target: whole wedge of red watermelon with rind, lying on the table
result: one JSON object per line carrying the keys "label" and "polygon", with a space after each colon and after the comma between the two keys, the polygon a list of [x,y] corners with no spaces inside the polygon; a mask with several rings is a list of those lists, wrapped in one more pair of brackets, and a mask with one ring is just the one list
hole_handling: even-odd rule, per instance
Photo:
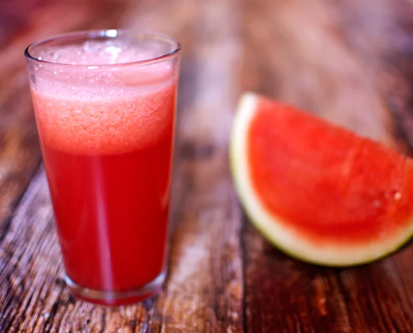
{"label": "whole wedge of red watermelon with rind, lying on the table", "polygon": [[313,114],[244,94],[230,155],[251,221],[297,259],[367,263],[413,233],[413,160]]}

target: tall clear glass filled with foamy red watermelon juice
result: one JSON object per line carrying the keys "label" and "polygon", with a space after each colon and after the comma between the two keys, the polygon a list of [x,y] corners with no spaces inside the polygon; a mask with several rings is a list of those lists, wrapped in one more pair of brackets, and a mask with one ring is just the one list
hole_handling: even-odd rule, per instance
{"label": "tall clear glass filled with foamy red watermelon juice", "polygon": [[165,280],[179,54],[122,30],[25,50],[65,281],[86,301],[134,303]]}

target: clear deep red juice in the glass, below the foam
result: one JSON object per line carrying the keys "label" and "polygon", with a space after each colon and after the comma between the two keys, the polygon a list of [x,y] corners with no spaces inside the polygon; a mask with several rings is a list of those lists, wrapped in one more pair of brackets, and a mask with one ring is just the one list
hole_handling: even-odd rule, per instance
{"label": "clear deep red juice in the glass, below the foam", "polygon": [[162,273],[171,131],[152,147],[110,155],[43,146],[66,273],[94,290],[130,290]]}

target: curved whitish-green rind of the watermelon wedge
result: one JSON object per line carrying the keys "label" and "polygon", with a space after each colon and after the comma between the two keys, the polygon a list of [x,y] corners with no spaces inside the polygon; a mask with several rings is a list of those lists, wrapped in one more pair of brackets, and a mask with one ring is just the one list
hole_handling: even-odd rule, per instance
{"label": "curved whitish-green rind of the watermelon wedge", "polygon": [[235,190],[249,219],[268,241],[286,254],[301,261],[342,267],[361,265],[386,256],[405,244],[413,235],[413,216],[406,227],[386,239],[370,243],[332,244],[317,243],[288,228],[288,221],[270,214],[253,190],[249,176],[246,135],[248,125],[260,97],[251,92],[242,95],[233,121],[229,159]]}

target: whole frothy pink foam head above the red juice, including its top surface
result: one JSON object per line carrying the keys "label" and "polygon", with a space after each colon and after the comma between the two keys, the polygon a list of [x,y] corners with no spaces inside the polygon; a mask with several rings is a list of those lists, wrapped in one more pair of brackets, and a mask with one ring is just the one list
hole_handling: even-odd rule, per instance
{"label": "whole frothy pink foam head above the red juice, including its top surface", "polygon": [[[114,154],[144,148],[171,133],[178,75],[174,60],[131,65],[165,50],[157,44],[128,43],[94,41],[39,54],[46,61],[81,65],[36,68],[32,96],[45,145],[74,153]],[[129,64],[99,68],[99,63]]]}

